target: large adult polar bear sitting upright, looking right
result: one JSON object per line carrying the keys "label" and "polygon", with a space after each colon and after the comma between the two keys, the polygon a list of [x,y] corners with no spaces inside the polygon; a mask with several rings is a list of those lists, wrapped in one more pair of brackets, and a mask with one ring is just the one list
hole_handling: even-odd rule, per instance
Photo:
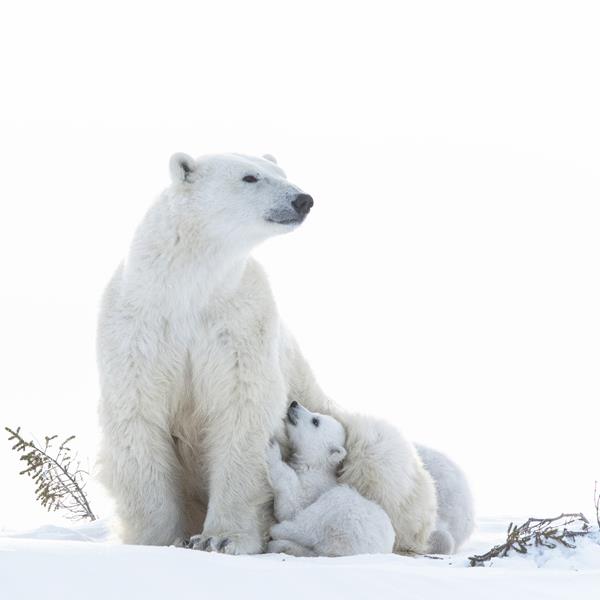
{"label": "large adult polar bear sitting upright, looking right", "polygon": [[390,425],[320,390],[282,326],[254,246],[291,231],[312,198],[270,156],[184,154],[105,292],[98,329],[101,478],[122,539],[261,552],[272,523],[265,452],[290,401],[346,427],[341,480],[389,514],[395,550],[422,552],[433,481]]}

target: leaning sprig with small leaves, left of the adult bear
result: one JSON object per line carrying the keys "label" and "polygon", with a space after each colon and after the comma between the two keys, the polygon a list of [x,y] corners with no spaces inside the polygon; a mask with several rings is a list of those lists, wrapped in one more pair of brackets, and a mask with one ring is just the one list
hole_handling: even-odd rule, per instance
{"label": "leaning sprig with small leaves, left of the adult bear", "polygon": [[84,476],[88,473],[79,467],[76,455],[67,445],[75,436],[66,438],[51,454],[52,442],[57,436],[46,436],[44,446],[40,447],[26,441],[20,427],[5,429],[10,434],[9,441],[16,440],[13,450],[21,454],[20,460],[27,465],[20,474],[31,477],[37,485],[36,500],[48,511],[64,510],[70,519],[95,521],[96,515],[85,495]]}

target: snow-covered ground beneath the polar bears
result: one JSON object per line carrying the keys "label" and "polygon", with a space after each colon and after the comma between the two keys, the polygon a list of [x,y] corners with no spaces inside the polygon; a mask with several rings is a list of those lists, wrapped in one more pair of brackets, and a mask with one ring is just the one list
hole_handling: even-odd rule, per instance
{"label": "snow-covered ground beneath the polar bears", "polygon": [[179,548],[124,546],[106,522],[46,526],[0,537],[0,597],[112,598],[600,598],[600,546],[496,560],[472,568],[467,557],[504,540],[504,519],[480,520],[459,554],[426,557],[292,558],[224,556]]}

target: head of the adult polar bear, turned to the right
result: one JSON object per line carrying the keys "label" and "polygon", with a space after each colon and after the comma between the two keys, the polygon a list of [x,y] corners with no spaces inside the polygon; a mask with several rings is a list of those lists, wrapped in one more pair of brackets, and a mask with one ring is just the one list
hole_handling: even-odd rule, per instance
{"label": "head of the adult polar bear, turned to the right", "polygon": [[172,189],[189,219],[227,243],[258,243],[304,221],[313,199],[290,183],[270,155],[171,158]]}

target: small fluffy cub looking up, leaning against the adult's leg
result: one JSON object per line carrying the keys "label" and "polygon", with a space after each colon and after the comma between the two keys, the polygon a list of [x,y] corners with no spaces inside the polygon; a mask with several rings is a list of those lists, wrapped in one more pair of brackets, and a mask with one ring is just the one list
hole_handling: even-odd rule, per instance
{"label": "small fluffy cub looking up, leaning against the adult's leg", "polygon": [[273,442],[267,451],[275,518],[267,551],[294,556],[347,556],[393,551],[387,513],[354,488],[337,481],[346,456],[346,432],[333,417],[289,406],[288,463]]}

